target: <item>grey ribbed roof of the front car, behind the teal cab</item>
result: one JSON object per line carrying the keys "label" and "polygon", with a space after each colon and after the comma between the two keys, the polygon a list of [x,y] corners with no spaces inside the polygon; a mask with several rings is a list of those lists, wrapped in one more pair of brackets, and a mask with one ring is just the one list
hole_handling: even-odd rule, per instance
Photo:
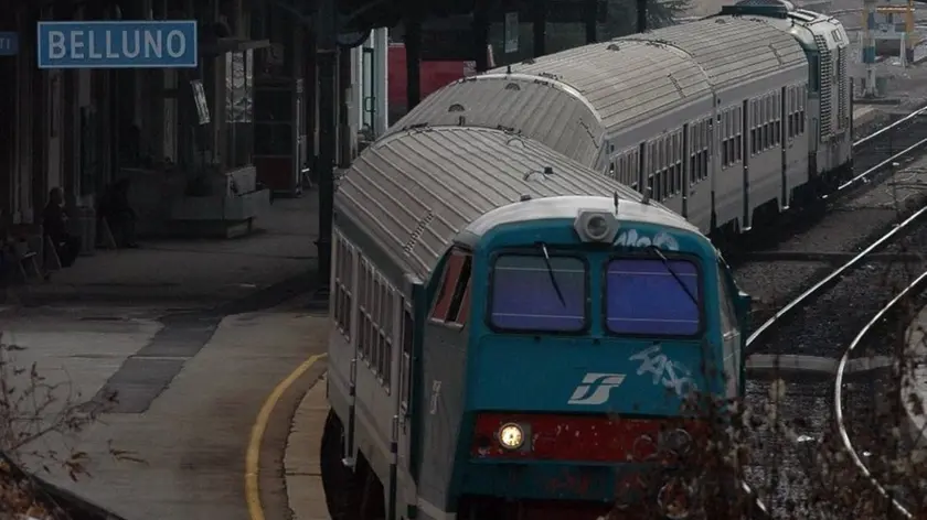
{"label": "grey ribbed roof of the front car, behind the teal cab", "polygon": [[[545,167],[553,174],[544,174]],[[648,206],[639,202],[639,193],[547,147],[502,130],[466,127],[407,130],[375,142],[339,181],[335,212],[338,219],[353,220],[409,273],[426,279],[455,239],[472,240],[475,221],[519,203],[523,195],[607,197],[603,201],[614,209],[615,193],[622,214],[699,232],[657,203],[632,209]],[[564,204],[533,202],[523,207],[534,208],[532,217],[556,217]],[[590,204],[583,207],[601,202]],[[571,216],[575,215],[574,207]],[[482,223],[479,229],[489,229],[487,220]]]}

